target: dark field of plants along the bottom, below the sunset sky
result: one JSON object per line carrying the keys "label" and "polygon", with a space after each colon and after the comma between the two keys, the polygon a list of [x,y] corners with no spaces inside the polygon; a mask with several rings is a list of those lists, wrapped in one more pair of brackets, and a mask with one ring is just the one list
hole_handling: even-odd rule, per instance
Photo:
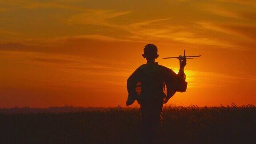
{"label": "dark field of plants along the bottom, below the sunset sky", "polygon": [[[139,108],[25,109],[0,109],[1,144],[140,143]],[[163,144],[255,143],[253,105],[165,107],[162,117]]]}

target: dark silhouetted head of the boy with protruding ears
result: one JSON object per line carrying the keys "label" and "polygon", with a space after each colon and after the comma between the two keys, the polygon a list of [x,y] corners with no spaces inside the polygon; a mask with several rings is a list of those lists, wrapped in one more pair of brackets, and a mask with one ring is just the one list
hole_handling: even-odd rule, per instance
{"label": "dark silhouetted head of the boy with protruding ears", "polygon": [[155,60],[159,55],[157,54],[157,48],[154,44],[147,44],[144,47],[144,54],[142,54],[147,60]]}

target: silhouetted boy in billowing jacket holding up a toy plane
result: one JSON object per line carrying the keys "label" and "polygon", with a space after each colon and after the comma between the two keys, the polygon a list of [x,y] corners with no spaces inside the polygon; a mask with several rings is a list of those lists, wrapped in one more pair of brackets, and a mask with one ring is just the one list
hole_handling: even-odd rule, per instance
{"label": "silhouetted boy in billowing jacket holding up a toy plane", "polygon": [[[141,134],[144,144],[160,143],[161,113],[163,104],[176,92],[185,92],[187,88],[184,67],[186,59],[180,60],[180,70],[176,74],[170,68],[155,62],[159,56],[154,44],[144,47],[142,56],[147,64],[141,65],[127,80],[128,100],[131,105],[135,100],[140,104]],[[163,88],[167,87],[167,95]]]}

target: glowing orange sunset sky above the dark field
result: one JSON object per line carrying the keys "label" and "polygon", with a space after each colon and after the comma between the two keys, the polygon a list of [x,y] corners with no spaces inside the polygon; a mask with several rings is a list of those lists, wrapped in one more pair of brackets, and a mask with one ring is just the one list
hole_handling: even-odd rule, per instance
{"label": "glowing orange sunset sky above the dark field", "polygon": [[202,55],[168,104],[256,105],[255,0],[1,0],[0,107],[124,106],[148,43]]}

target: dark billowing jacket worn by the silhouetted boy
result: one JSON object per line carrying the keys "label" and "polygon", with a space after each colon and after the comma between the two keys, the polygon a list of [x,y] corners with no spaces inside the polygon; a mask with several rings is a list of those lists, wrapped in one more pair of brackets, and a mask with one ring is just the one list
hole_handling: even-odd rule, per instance
{"label": "dark billowing jacket worn by the silhouetted boy", "polygon": [[[188,83],[185,81],[184,72],[176,74],[170,68],[166,68],[156,63],[143,64],[132,73],[127,80],[128,99],[126,105],[131,105],[135,100],[139,104],[145,99],[163,99],[170,97],[170,92],[185,92]],[[136,85],[140,82],[141,93],[136,92]],[[167,95],[163,88],[166,84]]]}

